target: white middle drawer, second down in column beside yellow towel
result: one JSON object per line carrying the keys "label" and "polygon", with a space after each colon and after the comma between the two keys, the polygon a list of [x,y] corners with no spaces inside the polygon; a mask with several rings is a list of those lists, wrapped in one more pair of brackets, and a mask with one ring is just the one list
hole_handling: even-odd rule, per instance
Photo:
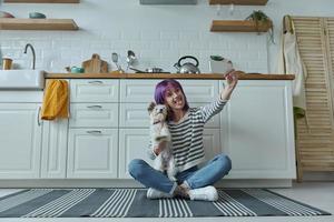
{"label": "white middle drawer, second down in column beside yellow towel", "polygon": [[118,103],[71,103],[70,128],[117,128]]}

